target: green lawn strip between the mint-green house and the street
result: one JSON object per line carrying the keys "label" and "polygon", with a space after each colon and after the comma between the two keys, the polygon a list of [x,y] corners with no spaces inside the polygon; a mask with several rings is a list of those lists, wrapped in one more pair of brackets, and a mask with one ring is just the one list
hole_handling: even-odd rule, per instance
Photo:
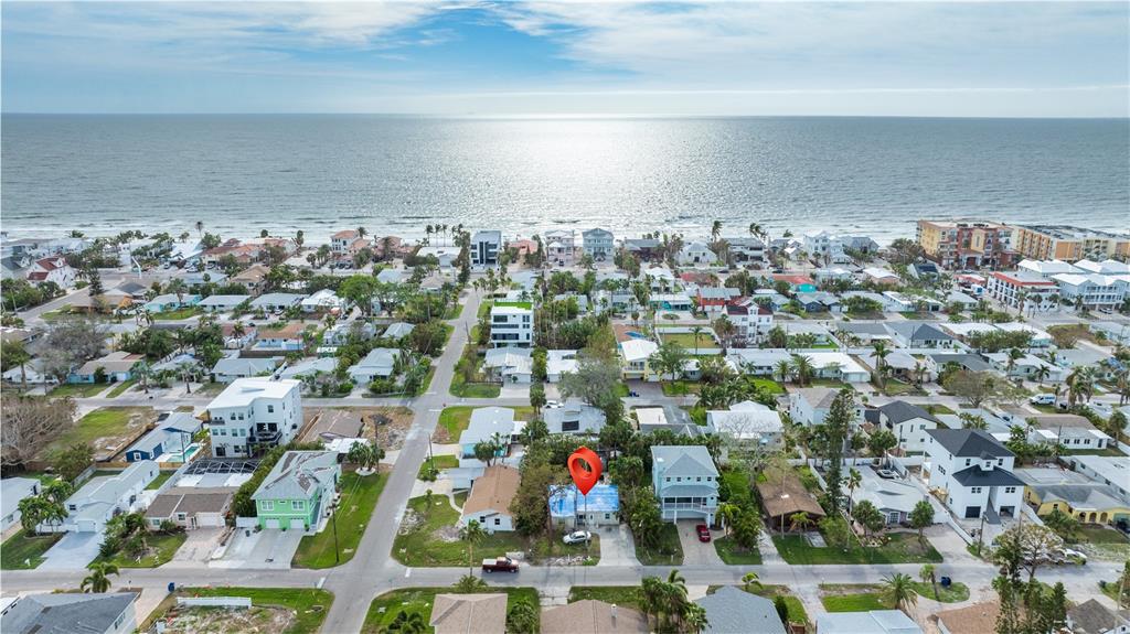
{"label": "green lawn strip between the mint-green house and the street", "polygon": [[[347,473],[341,476],[341,501],[336,511],[337,545],[340,549],[340,563],[353,558],[360,544],[365,527],[373,517],[373,509],[381,497],[381,491],[389,481],[388,474],[371,474],[359,476]],[[298,543],[298,549],[290,562],[299,567],[332,567],[338,565],[334,556],[333,520],[321,532],[306,535]]]}

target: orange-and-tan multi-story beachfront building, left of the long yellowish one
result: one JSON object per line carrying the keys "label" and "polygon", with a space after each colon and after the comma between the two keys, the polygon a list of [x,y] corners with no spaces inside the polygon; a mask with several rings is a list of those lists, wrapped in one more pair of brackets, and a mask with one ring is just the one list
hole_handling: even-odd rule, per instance
{"label": "orange-and-tan multi-story beachfront building, left of the long yellowish one", "polygon": [[918,243],[946,268],[1010,268],[1017,259],[1012,228],[974,220],[919,220]]}

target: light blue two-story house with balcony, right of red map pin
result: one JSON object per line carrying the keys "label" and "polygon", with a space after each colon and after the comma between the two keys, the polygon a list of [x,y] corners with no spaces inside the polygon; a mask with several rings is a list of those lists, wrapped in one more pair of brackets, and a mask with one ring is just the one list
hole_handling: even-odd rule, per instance
{"label": "light blue two-story house with balcony, right of red map pin", "polygon": [[666,521],[702,519],[714,523],[718,467],[701,444],[651,448],[652,486]]}

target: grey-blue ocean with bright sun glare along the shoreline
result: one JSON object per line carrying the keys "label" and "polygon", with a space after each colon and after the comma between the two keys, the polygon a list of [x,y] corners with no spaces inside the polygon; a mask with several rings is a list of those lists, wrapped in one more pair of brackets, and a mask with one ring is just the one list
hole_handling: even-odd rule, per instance
{"label": "grey-blue ocean with bright sun glare along the shoreline", "polygon": [[1130,227],[1128,120],[6,114],[0,135],[12,237]]}

